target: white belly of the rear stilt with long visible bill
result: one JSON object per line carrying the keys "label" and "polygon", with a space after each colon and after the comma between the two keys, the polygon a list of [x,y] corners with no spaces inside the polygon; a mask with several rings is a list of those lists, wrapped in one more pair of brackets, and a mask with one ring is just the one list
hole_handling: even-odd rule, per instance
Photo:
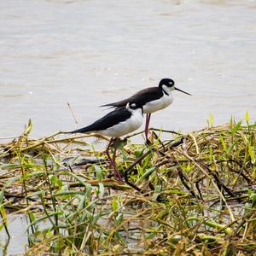
{"label": "white belly of the rear stilt with long visible bill", "polygon": [[164,94],[160,99],[153,102],[148,102],[143,106],[144,113],[154,113],[155,111],[161,110],[168,107],[173,102],[173,96],[170,93],[169,95]]}

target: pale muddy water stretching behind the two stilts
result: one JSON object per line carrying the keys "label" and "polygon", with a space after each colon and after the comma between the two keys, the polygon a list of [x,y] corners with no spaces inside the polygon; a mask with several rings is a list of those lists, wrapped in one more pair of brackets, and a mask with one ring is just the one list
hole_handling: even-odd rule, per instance
{"label": "pale muddy water stretching behind the two stilts", "polygon": [[175,92],[154,127],[255,120],[255,24],[255,0],[0,1],[0,137],[29,118],[34,137],[75,128],[67,102],[90,124],[164,77],[193,96]]}

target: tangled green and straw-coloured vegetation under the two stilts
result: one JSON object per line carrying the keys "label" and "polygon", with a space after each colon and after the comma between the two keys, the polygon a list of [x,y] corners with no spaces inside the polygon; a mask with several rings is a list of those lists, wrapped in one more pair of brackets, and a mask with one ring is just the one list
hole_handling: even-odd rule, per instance
{"label": "tangled green and straw-coloured vegetation under the two stilts", "polygon": [[29,123],[1,145],[0,228],[26,214],[27,255],[253,255],[256,125],[246,121],[120,143],[125,184],[88,135],[35,140]]}

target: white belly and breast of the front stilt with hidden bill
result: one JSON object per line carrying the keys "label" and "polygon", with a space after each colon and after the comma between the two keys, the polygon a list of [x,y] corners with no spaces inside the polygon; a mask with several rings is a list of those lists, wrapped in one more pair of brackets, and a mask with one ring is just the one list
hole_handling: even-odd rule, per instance
{"label": "white belly and breast of the front stilt with hidden bill", "polygon": [[122,137],[131,131],[136,131],[143,124],[143,113],[142,109],[136,109],[132,114],[131,118],[113,125],[104,131],[98,131],[99,133],[108,137]]}

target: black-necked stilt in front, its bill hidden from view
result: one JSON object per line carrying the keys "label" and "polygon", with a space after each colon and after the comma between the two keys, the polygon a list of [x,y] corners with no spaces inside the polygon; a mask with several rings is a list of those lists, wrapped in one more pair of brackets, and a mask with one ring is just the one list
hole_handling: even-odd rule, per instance
{"label": "black-necked stilt in front, its bill hidden from view", "polygon": [[[111,137],[110,142],[108,143],[108,148],[106,149],[106,153],[113,166],[114,177],[119,180],[119,182],[123,182],[115,162],[119,137],[122,137],[131,131],[137,130],[142,124],[143,106],[139,104],[139,102],[128,102],[125,105],[125,108],[116,108],[112,112],[103,116],[101,119],[96,120],[96,122],[93,124],[75,131],[70,131],[68,133],[96,132]],[[111,158],[109,154],[109,148],[113,141],[115,142],[115,147],[113,151],[113,157]]]}

